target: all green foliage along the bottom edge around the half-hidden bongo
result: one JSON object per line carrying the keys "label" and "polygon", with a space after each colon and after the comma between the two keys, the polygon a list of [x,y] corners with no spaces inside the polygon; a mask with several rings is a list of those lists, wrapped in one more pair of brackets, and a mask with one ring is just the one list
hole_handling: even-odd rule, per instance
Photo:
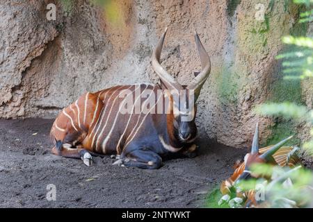
{"label": "all green foliage along the bottom edge around the half-hidden bongo", "polygon": [[[231,187],[234,190],[232,194],[222,197],[218,189],[212,191],[207,198],[207,207],[245,207],[246,198],[242,194],[251,190],[255,191],[258,207],[313,206],[313,175],[310,170],[301,166],[290,169],[272,164],[253,164],[250,172],[257,178],[235,182]],[[233,195],[236,191],[241,193],[241,198]]]}

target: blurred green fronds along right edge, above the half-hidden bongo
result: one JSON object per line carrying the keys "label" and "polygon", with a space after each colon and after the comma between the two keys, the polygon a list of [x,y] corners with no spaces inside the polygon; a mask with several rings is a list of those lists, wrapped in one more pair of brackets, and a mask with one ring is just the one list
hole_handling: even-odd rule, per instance
{"label": "blurred green fronds along right edge, above the half-hidden bongo", "polygon": [[[294,2],[305,3],[307,7],[313,4],[313,0],[294,0]],[[300,13],[300,18],[307,19],[311,16],[312,10]],[[303,22],[303,20],[300,19],[299,22]],[[290,47],[289,51],[277,56],[277,59],[283,60],[282,67],[284,68],[284,84],[274,86],[273,97],[278,100],[275,101],[274,99],[273,102],[275,103],[259,105],[256,111],[258,114],[269,117],[283,117],[287,119],[284,123],[290,123],[291,120],[313,123],[313,111],[301,105],[300,99],[300,80],[313,77],[313,39],[304,36],[285,36],[282,38],[282,42]],[[281,98],[284,98],[283,101]],[[288,128],[273,130],[273,133],[276,133],[273,137],[280,137],[281,132],[278,133],[277,131],[287,132]],[[303,148],[313,153],[313,139],[303,144]]]}

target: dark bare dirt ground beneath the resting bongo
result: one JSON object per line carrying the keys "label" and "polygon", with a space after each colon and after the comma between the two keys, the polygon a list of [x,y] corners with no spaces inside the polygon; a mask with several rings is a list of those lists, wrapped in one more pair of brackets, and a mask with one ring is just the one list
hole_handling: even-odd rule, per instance
{"label": "dark bare dirt ground beneath the resting bongo", "polygon": [[[0,207],[203,207],[207,191],[246,153],[203,137],[193,159],[166,160],[158,170],[112,165],[109,156],[52,155],[51,119],[0,120]],[[56,185],[56,201],[46,198]]]}

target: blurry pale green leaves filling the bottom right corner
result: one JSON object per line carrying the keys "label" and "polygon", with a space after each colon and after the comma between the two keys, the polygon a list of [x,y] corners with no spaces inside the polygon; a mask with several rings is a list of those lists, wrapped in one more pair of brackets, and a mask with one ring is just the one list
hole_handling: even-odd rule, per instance
{"label": "blurry pale green leaves filling the bottom right corner", "polygon": [[[239,182],[242,191],[262,187],[259,192],[264,192],[264,200],[259,204],[262,207],[312,207],[312,172],[296,167],[273,167],[268,164],[255,164],[251,167],[253,174],[264,173],[271,180],[259,178]],[[270,173],[268,173],[270,172]],[[257,189],[256,189],[257,190]]]}

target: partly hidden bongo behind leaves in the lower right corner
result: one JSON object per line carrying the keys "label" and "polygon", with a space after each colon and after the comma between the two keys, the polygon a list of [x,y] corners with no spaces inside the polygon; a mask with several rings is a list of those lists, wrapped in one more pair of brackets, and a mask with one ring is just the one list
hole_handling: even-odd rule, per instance
{"label": "partly hidden bongo behind leaves in the lower right corner", "polygon": [[259,148],[259,129],[258,123],[255,127],[255,134],[252,139],[252,147],[250,153],[246,154],[244,161],[236,167],[234,173],[230,178],[223,181],[220,185],[220,192],[225,195],[231,195],[232,191],[236,192],[236,196],[246,200],[245,206],[250,207],[251,205],[256,206],[257,201],[255,200],[255,190],[249,190],[245,193],[236,191],[236,184],[241,180],[247,180],[248,178],[259,178],[259,175],[252,175],[250,167],[252,164],[267,163],[276,164],[280,167],[296,167],[300,164],[300,158],[296,155],[295,151],[297,148],[291,146],[283,146],[291,137],[283,139],[274,146],[267,146]]}

